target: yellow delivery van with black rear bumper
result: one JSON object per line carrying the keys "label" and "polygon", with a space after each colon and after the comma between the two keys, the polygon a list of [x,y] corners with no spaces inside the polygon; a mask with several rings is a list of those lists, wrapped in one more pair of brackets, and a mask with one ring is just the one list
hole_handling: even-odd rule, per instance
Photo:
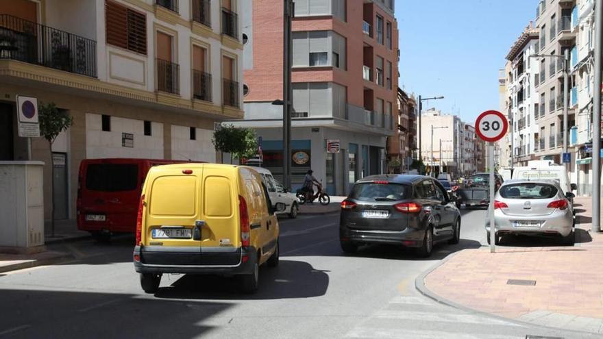
{"label": "yellow delivery van with black rear bumper", "polygon": [[245,292],[255,292],[259,266],[278,265],[279,227],[269,199],[260,175],[247,166],[151,168],[134,247],[143,290],[156,292],[163,273],[192,273],[236,275]]}

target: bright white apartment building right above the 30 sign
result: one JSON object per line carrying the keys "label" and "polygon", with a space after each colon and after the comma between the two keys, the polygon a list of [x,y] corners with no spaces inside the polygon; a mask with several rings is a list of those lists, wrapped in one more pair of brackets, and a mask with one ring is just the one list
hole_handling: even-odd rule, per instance
{"label": "bright white apartment building right above the 30 sign", "polygon": [[506,55],[510,66],[506,81],[510,117],[508,133],[515,166],[526,166],[528,161],[536,159],[534,152],[545,151],[545,136],[537,123],[543,110],[543,96],[536,91],[536,85],[540,83],[541,62],[531,57],[539,53],[538,44],[539,30],[530,23]]}

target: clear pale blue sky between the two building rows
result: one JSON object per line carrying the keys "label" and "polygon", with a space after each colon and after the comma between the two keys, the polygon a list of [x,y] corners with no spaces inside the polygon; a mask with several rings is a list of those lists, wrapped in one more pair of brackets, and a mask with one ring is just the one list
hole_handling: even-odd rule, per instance
{"label": "clear pale blue sky between the two building rows", "polygon": [[423,102],[475,121],[499,110],[498,70],[539,0],[395,0],[399,30],[398,86]]}

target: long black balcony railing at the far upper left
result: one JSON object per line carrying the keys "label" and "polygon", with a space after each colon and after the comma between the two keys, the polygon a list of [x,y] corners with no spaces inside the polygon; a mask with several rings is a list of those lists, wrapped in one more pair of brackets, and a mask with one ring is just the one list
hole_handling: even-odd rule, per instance
{"label": "long black balcony railing at the far upper left", "polygon": [[95,40],[0,14],[0,46],[0,59],[97,77]]}

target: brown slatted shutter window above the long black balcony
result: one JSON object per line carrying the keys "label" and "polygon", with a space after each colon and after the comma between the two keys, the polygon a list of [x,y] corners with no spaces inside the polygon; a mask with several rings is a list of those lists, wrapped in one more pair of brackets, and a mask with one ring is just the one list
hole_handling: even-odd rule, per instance
{"label": "brown slatted shutter window above the long black balcony", "polygon": [[130,8],[106,1],[107,43],[129,49],[136,53],[147,54],[147,17]]}

